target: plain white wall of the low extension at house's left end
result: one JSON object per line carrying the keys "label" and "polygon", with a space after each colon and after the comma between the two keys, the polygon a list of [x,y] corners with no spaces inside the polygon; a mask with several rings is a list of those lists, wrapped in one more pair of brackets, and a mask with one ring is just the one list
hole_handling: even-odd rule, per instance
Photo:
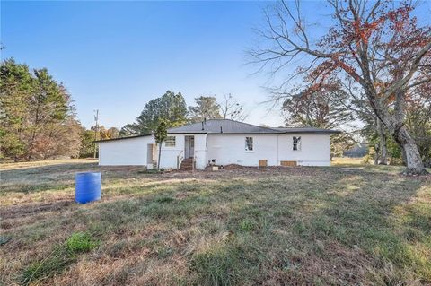
{"label": "plain white wall of the low extension at house's left end", "polygon": [[149,143],[154,143],[153,136],[99,143],[99,165],[146,165],[146,149]]}

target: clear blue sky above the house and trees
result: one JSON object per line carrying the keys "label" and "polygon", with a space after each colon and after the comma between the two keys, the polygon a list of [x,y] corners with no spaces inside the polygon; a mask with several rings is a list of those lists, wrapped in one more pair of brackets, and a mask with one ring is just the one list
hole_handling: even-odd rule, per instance
{"label": "clear blue sky above the house and trees", "polygon": [[[2,1],[2,58],[47,67],[87,127],[95,108],[104,126],[131,123],[167,90],[181,91],[188,105],[232,93],[249,110],[248,122],[278,126],[278,109],[259,104],[268,99],[265,74],[244,65],[267,4]],[[314,21],[328,14],[321,2],[304,5]]]}

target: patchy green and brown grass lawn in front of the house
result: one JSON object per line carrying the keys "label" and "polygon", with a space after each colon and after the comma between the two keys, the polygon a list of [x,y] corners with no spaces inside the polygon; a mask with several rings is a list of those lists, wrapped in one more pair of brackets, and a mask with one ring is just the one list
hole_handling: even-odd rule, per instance
{"label": "patchy green and brown grass lawn in front of the house", "polygon": [[[431,283],[431,178],[400,167],[0,168],[0,284]],[[102,199],[75,204],[89,170]]]}

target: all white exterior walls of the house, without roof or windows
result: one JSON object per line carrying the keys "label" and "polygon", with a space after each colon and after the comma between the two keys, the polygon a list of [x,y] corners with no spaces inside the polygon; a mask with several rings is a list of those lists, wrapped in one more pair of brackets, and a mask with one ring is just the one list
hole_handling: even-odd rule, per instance
{"label": "all white exterior walls of the house, without roof or windows", "polygon": [[[162,144],[161,168],[177,168],[177,157],[184,156],[186,134],[175,136],[175,146]],[[193,134],[187,134],[193,135]],[[293,150],[293,137],[301,136],[301,150]],[[194,134],[197,169],[204,169],[208,160],[218,165],[239,164],[279,166],[281,160],[296,160],[303,166],[330,166],[330,134]],[[245,151],[245,137],[253,137],[253,151]],[[153,136],[99,143],[99,165],[147,165],[147,144]],[[157,151],[158,152],[158,151]],[[158,156],[158,153],[157,153]]]}

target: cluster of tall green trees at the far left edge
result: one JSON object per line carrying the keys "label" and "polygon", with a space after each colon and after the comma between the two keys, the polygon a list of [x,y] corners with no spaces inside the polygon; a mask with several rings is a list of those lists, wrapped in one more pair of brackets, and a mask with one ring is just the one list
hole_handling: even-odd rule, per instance
{"label": "cluster of tall green trees at the far left edge", "polygon": [[77,157],[81,126],[70,94],[47,69],[5,60],[0,67],[0,156],[8,160]]}

